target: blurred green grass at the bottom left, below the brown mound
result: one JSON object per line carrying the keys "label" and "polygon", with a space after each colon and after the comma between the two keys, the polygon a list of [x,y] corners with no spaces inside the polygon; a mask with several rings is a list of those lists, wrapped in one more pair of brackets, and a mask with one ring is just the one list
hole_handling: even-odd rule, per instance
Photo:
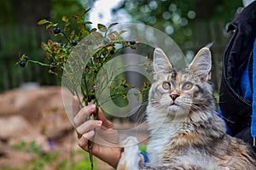
{"label": "blurred green grass at the bottom left, below the brown mound", "polygon": [[[22,167],[12,167],[11,165],[2,167],[2,170],[81,170],[90,169],[90,158],[84,150],[74,150],[69,158],[61,157],[60,150],[42,152],[36,142],[27,144],[20,141],[20,144],[13,145],[17,151],[22,151],[24,154],[31,154],[32,159],[24,162]],[[79,160],[74,160],[75,156],[79,156]],[[99,170],[96,167],[96,159],[94,159],[94,170]]]}

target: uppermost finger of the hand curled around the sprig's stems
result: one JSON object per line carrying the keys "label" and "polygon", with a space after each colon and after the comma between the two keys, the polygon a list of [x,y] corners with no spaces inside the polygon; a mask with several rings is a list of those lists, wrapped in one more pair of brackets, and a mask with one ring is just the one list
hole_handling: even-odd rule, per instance
{"label": "uppermost finger of the hand curled around the sprig's stems", "polygon": [[80,111],[77,113],[76,116],[73,118],[73,122],[75,127],[79,127],[84,121],[87,116],[90,116],[95,111],[95,105],[87,105],[84,106]]}

